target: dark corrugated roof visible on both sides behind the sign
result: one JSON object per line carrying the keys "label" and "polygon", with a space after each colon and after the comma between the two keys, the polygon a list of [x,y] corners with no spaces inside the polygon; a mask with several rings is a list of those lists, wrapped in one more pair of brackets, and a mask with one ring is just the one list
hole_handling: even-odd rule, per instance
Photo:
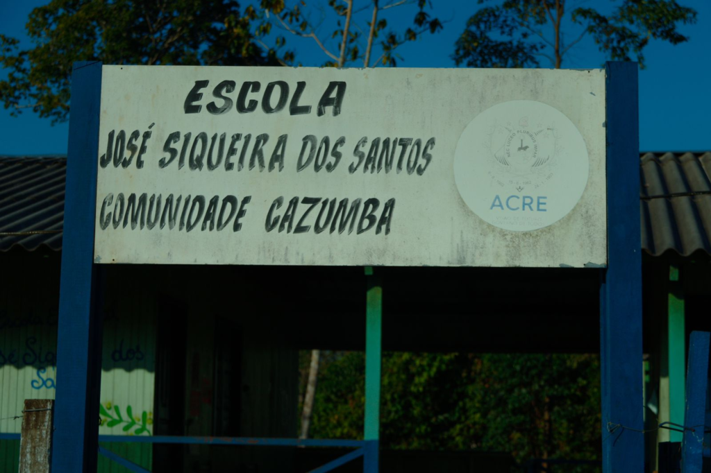
{"label": "dark corrugated roof visible on both sides behind the sign", "polygon": [[[642,248],[711,254],[711,152],[644,153],[640,172]],[[65,173],[63,157],[0,157],[0,251],[61,249]]]}

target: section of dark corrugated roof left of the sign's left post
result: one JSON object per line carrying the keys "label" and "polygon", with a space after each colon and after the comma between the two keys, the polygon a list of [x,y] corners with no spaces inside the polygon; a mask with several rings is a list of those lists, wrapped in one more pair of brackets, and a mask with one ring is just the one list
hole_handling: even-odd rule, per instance
{"label": "section of dark corrugated roof left of the sign's left post", "polygon": [[63,157],[0,157],[0,251],[62,247]]}

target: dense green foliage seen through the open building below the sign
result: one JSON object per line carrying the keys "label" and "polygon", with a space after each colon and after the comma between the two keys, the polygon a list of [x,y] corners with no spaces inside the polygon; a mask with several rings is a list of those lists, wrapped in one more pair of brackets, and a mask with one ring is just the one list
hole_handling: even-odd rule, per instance
{"label": "dense green foliage seen through the open building below the sign", "polygon": [[[363,354],[321,363],[311,437],[362,437]],[[382,390],[385,448],[599,458],[597,355],[388,353]]]}

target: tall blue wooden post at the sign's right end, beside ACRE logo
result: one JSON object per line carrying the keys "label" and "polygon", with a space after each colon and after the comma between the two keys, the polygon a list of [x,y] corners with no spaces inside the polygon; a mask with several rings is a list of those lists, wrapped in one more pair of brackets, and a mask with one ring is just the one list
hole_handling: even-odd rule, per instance
{"label": "tall blue wooden post at the sign's right end, beside ACRE logo", "polygon": [[607,255],[600,287],[602,468],[644,469],[636,62],[606,64]]}

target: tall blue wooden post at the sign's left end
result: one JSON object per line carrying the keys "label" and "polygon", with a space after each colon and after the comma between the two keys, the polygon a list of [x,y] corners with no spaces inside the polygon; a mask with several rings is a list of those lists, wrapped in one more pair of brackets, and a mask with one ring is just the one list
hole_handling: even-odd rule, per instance
{"label": "tall blue wooden post at the sign's left end", "polygon": [[93,260],[101,73],[101,62],[76,62],[72,74],[53,473],[97,468],[102,334],[93,304]]}

